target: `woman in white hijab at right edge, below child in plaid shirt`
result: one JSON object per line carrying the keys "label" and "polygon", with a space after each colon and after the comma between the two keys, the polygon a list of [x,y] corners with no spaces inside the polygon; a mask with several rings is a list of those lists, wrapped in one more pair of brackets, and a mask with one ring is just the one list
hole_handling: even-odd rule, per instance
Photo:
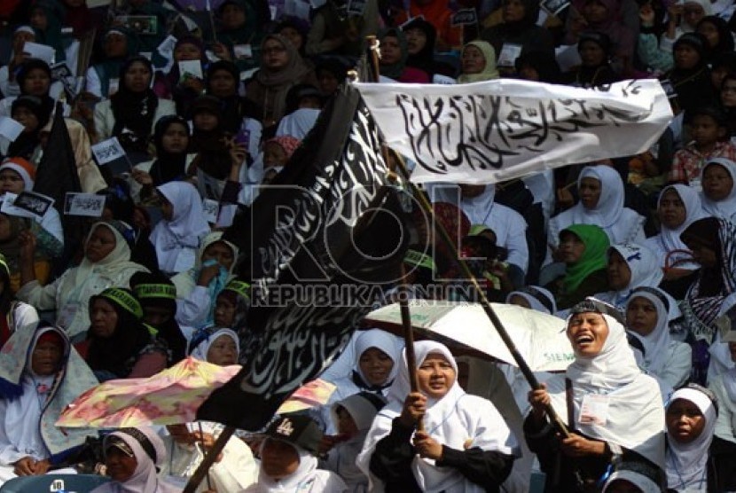
{"label": "woman in white hijab at right edge, below child in plaid shirt", "polygon": [[709,160],[701,169],[701,200],[708,215],[733,223],[736,218],[736,162]]}

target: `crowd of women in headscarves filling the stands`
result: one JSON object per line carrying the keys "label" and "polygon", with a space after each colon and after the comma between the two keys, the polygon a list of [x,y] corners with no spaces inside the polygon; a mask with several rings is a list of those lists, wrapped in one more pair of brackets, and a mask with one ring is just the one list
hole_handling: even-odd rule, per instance
{"label": "crowd of women in headscarves filling the stands", "polygon": [[[188,6],[0,5],[0,481],[88,471],[97,450],[111,482],[95,491],[182,489],[221,425],[122,428],[94,445],[54,423],[98,382],[262,347],[239,262],[250,241],[223,231],[259,187],[308,165],[294,152],[377,35],[380,82],[655,77],[675,117],[636,156],[425,190],[491,301],[566,320],[567,372],[530,391],[508,365],[420,341],[411,391],[403,341],[358,331],[322,375],[330,402],[233,436],[199,490],[736,490],[732,2]],[[92,219],[13,206],[57,158],[54,121],[81,192],[103,197]],[[98,166],[92,145],[113,137],[124,162]],[[412,295],[474,301],[414,213]]]}

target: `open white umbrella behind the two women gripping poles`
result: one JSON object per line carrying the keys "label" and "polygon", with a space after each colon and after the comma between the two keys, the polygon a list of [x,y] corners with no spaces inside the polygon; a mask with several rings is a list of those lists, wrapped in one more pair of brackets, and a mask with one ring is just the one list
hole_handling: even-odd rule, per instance
{"label": "open white umbrella behind the two women gripping poles", "polygon": [[[491,307],[533,372],[561,372],[575,359],[561,318],[516,305]],[[518,366],[480,304],[413,300],[409,310],[411,325],[424,337]],[[372,311],[365,323],[401,334],[399,304]]]}

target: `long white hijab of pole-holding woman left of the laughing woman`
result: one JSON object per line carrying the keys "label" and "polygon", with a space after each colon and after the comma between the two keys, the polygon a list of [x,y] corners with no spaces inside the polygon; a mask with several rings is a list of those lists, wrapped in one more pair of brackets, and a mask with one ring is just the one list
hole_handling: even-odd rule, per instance
{"label": "long white hijab of pole-holding woman left of the laughing woman", "polygon": [[[424,426],[427,434],[437,442],[455,450],[466,450],[479,447],[482,450],[497,450],[513,455],[517,443],[513,434],[505,425],[504,419],[493,404],[481,397],[466,395],[457,380],[458,364],[450,353],[450,349],[432,340],[414,343],[417,366],[419,367],[430,354],[444,356],[456,372],[455,382],[447,394],[440,399],[427,398],[427,414]],[[388,390],[388,404],[373,420],[371,431],[364,442],[363,450],[357,458],[357,466],[371,478],[372,491],[383,491],[380,478],[370,473],[370,462],[376,444],[388,435],[393,420],[403,409],[403,402],[409,395],[411,385],[406,366],[406,351],[402,355],[402,364],[394,384]],[[435,461],[415,456],[411,462],[411,472],[419,484],[419,489],[427,493],[482,492],[485,489],[466,478],[455,468],[437,467]]]}

